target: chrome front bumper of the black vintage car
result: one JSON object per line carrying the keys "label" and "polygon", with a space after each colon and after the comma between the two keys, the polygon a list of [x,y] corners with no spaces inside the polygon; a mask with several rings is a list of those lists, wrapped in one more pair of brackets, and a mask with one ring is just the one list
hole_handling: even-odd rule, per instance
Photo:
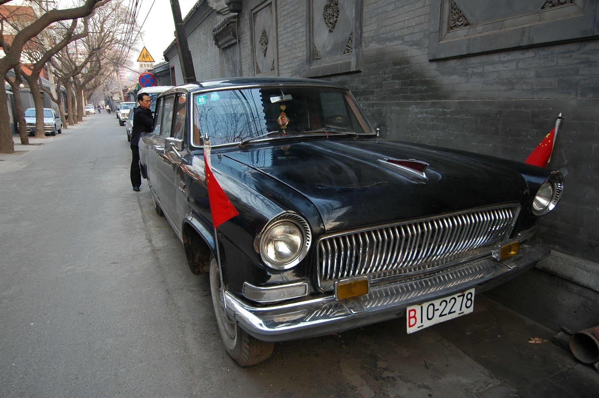
{"label": "chrome front bumper of the black vintage car", "polygon": [[528,271],[549,253],[549,248],[542,245],[522,244],[520,252],[506,260],[485,257],[420,277],[371,285],[367,295],[346,300],[337,300],[331,294],[301,302],[256,307],[227,291],[226,310],[242,329],[262,341],[328,335],[403,317],[410,305],[473,287],[480,293]]}

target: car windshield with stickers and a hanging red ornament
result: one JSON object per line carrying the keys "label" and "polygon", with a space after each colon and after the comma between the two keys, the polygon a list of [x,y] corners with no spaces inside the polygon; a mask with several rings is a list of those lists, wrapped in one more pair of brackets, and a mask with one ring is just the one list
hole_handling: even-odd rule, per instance
{"label": "car windshield with stickers and a hanging red ornament", "polygon": [[373,133],[349,92],[326,87],[259,87],[193,96],[193,144],[265,136]]}

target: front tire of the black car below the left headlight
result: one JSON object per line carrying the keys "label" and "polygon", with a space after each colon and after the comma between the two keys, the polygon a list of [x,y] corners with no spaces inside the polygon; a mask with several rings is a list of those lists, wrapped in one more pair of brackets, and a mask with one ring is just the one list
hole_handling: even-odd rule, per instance
{"label": "front tire of the black car below the left headlight", "polygon": [[220,339],[229,356],[241,366],[252,366],[270,358],[274,343],[253,338],[226,315],[220,268],[214,256],[210,258],[210,293]]}

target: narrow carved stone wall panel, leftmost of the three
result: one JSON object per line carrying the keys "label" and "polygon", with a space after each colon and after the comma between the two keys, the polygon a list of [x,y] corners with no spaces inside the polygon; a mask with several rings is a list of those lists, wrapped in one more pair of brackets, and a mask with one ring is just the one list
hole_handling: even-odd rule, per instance
{"label": "narrow carved stone wall panel, leftmost of the three", "polygon": [[263,3],[252,10],[253,57],[256,75],[276,73],[278,48],[275,10],[273,2]]}

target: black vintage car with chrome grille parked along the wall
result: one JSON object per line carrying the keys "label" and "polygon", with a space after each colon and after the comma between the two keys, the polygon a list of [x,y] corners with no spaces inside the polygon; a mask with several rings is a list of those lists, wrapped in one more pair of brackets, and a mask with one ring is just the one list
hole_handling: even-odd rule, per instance
{"label": "black vintage car with chrome grille parked along the wall", "polygon": [[[202,147],[239,215],[213,228]],[[229,78],[164,92],[142,174],[243,366],[273,343],[406,315],[412,333],[549,255],[556,171],[379,138],[344,87]],[[216,232],[215,232],[216,231]]]}

